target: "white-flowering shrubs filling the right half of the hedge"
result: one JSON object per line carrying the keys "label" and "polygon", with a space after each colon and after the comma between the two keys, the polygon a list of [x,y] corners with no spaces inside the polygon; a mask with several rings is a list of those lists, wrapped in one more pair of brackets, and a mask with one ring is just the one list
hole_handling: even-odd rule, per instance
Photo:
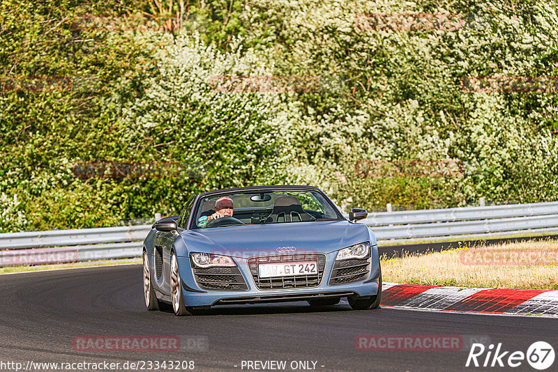
{"label": "white-flowering shrubs filling the right half of the hedge", "polygon": [[[362,21],[397,14],[450,14],[459,22],[409,31],[397,29],[402,24],[375,29]],[[557,76],[555,60],[543,57],[558,52],[555,5],[256,0],[243,16],[254,25],[253,42],[278,68],[341,82],[337,89],[299,97],[303,114],[291,140],[293,148],[303,149],[293,175],[299,182],[369,208],[460,206],[480,196],[558,198],[552,186],[558,180],[555,92],[462,88],[469,77]],[[269,22],[273,18],[281,22]],[[259,34],[255,24],[262,19],[267,24]],[[355,171],[359,160],[455,160],[463,173],[367,178]]]}

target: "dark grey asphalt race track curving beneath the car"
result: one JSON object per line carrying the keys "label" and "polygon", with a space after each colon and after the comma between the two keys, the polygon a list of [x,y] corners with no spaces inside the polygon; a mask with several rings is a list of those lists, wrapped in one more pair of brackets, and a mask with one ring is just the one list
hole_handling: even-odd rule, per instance
{"label": "dark grey asphalt race track curving beneath the car", "polygon": [[[531,343],[546,341],[558,352],[558,320],[550,318],[386,307],[352,311],[343,302],[322,309],[312,309],[306,302],[228,306],[190,317],[146,311],[141,265],[2,275],[0,293],[2,371],[16,370],[9,369],[7,362],[21,362],[25,368],[29,362],[104,361],[121,366],[143,361],[140,364],[145,363],[144,370],[149,371],[149,361],[165,360],[194,361],[194,371],[254,371],[242,368],[243,361],[246,365],[246,361],[270,360],[286,361],[279,371],[293,371],[290,364],[299,361],[311,361],[310,367],[315,362],[315,369],[296,371],[509,371],[509,366],[483,368],[486,352],[478,357],[481,367],[465,367],[470,341],[482,340],[487,346],[502,343],[502,351],[510,353],[527,352]],[[460,351],[356,350],[355,339],[362,334],[377,339],[386,334],[460,335],[469,345]],[[183,341],[182,348],[194,350],[82,351],[73,343],[89,336],[141,335],[190,339]],[[502,359],[504,364],[508,355]],[[556,366],[558,361],[548,371],[556,371]],[[169,364],[158,370],[168,371]],[[536,370],[523,361],[513,371]]]}

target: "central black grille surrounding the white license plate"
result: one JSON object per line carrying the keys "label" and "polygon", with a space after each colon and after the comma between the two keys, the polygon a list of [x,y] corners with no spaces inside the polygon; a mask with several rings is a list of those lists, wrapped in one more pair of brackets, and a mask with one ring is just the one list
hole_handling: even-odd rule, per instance
{"label": "central black grille surrounding the white license plate", "polygon": [[[260,278],[259,263],[296,263],[316,261],[317,274],[290,275],[284,277]],[[258,289],[292,289],[317,287],[322,282],[326,268],[325,254],[277,254],[273,256],[257,256],[248,258],[248,268]]]}

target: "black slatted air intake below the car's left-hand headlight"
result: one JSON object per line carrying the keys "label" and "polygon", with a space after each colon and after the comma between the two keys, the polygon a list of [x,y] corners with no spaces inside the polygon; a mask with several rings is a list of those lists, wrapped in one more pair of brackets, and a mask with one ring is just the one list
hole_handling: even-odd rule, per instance
{"label": "black slatted air intake below the car's left-hand headlight", "polygon": [[199,288],[212,290],[248,290],[239,268],[192,268]]}

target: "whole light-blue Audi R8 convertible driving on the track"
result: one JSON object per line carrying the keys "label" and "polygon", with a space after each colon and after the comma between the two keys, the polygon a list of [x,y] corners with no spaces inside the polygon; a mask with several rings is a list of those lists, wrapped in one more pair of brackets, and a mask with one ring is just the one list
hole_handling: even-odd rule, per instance
{"label": "whole light-blue Audi R8 convertible driving on the track", "polygon": [[176,315],[222,304],[307,301],[375,309],[382,271],[375,235],[345,219],[317,187],[261,186],[203,192],[160,219],[144,240],[147,309]]}

